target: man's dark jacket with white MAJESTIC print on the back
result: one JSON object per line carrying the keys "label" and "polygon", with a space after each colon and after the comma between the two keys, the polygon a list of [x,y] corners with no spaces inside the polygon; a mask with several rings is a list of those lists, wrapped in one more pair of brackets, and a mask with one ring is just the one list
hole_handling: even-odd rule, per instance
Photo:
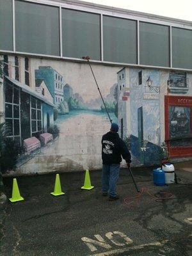
{"label": "man's dark jacket with white MAJESTIC print on the back", "polygon": [[119,164],[122,157],[127,163],[131,163],[131,154],[117,132],[110,131],[104,134],[101,143],[103,164]]}

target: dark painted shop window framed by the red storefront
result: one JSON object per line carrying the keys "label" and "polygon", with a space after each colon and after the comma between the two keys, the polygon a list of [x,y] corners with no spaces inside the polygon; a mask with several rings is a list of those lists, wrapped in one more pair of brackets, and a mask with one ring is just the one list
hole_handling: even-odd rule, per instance
{"label": "dark painted shop window framed by the red storefront", "polygon": [[191,108],[170,106],[170,146],[192,145]]}

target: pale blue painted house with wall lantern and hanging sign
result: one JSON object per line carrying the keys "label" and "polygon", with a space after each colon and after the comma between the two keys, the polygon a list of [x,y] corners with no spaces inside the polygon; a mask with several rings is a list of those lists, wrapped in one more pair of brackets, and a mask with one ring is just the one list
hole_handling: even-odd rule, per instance
{"label": "pale blue painted house with wall lantern and hanging sign", "polygon": [[130,74],[132,153],[141,164],[152,165],[160,160],[161,149],[160,72],[131,69]]}

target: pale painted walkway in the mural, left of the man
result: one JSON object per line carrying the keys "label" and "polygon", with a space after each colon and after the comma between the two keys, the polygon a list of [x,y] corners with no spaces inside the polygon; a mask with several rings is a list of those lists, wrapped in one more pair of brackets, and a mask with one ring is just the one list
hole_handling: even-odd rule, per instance
{"label": "pale painted walkway in the mural, left of the man", "polygon": [[[60,136],[52,145],[17,169],[18,173],[68,170],[98,170],[102,167],[101,137],[110,129],[105,113],[81,113],[58,121]],[[90,154],[92,157],[90,157]],[[72,157],[75,156],[75,157]],[[92,160],[91,160],[92,158]]]}

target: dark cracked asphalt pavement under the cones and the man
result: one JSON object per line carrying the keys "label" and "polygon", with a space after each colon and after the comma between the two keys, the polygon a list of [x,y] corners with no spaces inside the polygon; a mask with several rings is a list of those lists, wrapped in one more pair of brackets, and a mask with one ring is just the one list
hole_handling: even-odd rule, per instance
{"label": "dark cracked asphalt pavement under the cones and the man", "polygon": [[[182,184],[155,186],[152,168],[132,172],[145,191],[134,198],[131,175],[123,169],[114,202],[102,196],[101,171],[90,171],[90,191],[81,189],[84,172],[60,173],[61,196],[50,194],[55,174],[18,177],[24,201],[7,202],[1,210],[0,255],[192,255],[191,173],[177,170]],[[12,182],[4,178],[8,198]]]}

